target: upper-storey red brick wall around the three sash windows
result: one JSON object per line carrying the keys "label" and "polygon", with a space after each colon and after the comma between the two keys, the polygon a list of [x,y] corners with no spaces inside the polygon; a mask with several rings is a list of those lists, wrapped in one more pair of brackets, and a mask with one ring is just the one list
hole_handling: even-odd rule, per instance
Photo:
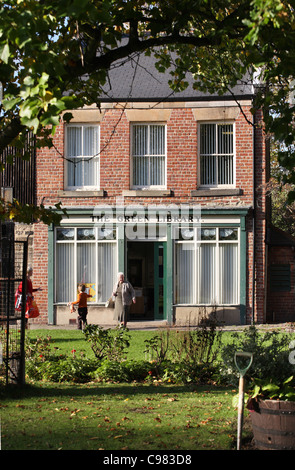
{"label": "upper-storey red brick wall around the three sash windows", "polygon": [[[245,110],[251,119],[249,109]],[[120,119],[119,123],[118,120]],[[115,127],[115,133],[111,134]],[[107,191],[102,198],[59,197],[57,191],[64,189],[63,126],[55,135],[55,147],[38,151],[37,159],[37,196],[44,203],[54,204],[62,200],[65,206],[94,206],[100,202],[114,204],[122,190],[130,189],[130,122],[121,110],[106,110],[100,126],[100,188]],[[243,114],[236,120],[236,186],[243,189],[242,196],[231,197],[192,197],[191,191],[197,189],[197,122],[191,109],[173,109],[167,122],[167,189],[174,190],[172,198],[152,198],[155,204],[160,201],[170,203],[197,204],[247,204],[253,200],[252,178],[252,126]],[[61,155],[58,153],[61,153]],[[149,198],[126,197],[131,202],[150,203]]]}

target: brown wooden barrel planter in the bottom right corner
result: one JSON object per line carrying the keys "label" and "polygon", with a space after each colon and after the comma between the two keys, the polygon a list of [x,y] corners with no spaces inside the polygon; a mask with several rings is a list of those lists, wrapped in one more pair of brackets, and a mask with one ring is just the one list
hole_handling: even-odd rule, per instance
{"label": "brown wooden barrel planter in the bottom right corner", "polygon": [[295,450],[295,402],[259,400],[253,408],[250,415],[256,448]]}

